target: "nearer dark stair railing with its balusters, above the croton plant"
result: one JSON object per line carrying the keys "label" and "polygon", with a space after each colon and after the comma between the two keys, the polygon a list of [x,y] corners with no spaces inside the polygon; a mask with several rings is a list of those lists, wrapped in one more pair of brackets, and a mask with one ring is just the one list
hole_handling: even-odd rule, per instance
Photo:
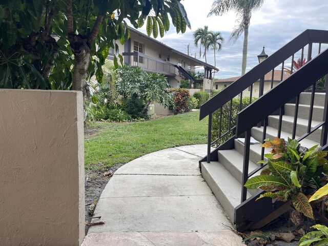
{"label": "nearer dark stair railing with its balusters, above the croton plant", "polygon": [[[245,136],[245,145],[244,145],[244,156],[243,156],[243,180],[242,180],[242,193],[241,193],[241,202],[246,200],[247,188],[244,187],[245,182],[254,175],[257,171],[262,169],[264,166],[257,168],[256,170],[249,173],[249,152],[250,152],[250,132],[251,129],[261,120],[265,120],[263,126],[263,136],[262,142],[265,139],[265,129],[268,125],[268,116],[271,115],[274,111],[279,110],[279,121],[278,121],[278,130],[277,136],[280,137],[282,132],[282,111],[284,105],[289,103],[292,99],[295,98],[295,111],[294,111],[294,122],[292,129],[292,138],[296,137],[296,128],[297,128],[297,119],[298,119],[298,110],[299,110],[299,100],[300,94],[309,88],[316,88],[317,81],[325,76],[327,78],[328,67],[326,62],[328,61],[328,49],[320,53],[317,57],[313,58],[311,61],[302,66],[298,71],[296,71],[293,76],[286,78],[282,83],[277,85],[273,90],[270,90],[265,96],[260,97],[252,105],[245,108],[239,112],[237,116],[237,128],[236,136],[244,135]],[[300,81],[302,81],[300,83]],[[326,88],[325,92],[328,89]],[[325,101],[323,106],[323,115],[322,121],[319,122],[316,126],[312,126],[313,112],[314,112],[314,101],[315,101],[315,90],[311,92],[310,99],[310,109],[308,123],[306,131],[297,137],[298,141],[308,138],[311,134],[321,129],[321,137],[317,139],[320,142],[320,146],[327,149],[327,135],[328,135],[328,95],[325,94]],[[274,102],[274,103],[272,103]],[[262,153],[264,153],[264,148],[262,147]],[[261,154],[261,160],[264,159],[263,154]]]}

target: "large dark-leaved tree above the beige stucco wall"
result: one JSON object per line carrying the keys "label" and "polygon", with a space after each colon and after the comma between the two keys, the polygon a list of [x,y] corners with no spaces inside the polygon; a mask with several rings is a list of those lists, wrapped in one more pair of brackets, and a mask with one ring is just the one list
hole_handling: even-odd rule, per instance
{"label": "large dark-leaved tree above the beige stucco wall", "polygon": [[[89,97],[86,79],[102,81],[109,49],[144,25],[147,33],[163,36],[172,23],[176,32],[190,28],[178,0],[67,0],[0,3],[0,88],[73,89]],[[117,56],[118,55],[118,56]]]}

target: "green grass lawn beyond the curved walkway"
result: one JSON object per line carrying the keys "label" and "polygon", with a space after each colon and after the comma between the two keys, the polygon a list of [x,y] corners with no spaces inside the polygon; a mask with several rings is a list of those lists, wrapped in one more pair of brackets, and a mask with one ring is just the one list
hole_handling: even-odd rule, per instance
{"label": "green grass lawn beyond the curved walkway", "polygon": [[85,139],[85,168],[105,170],[158,150],[205,144],[208,120],[199,111],[141,122],[99,122]]}

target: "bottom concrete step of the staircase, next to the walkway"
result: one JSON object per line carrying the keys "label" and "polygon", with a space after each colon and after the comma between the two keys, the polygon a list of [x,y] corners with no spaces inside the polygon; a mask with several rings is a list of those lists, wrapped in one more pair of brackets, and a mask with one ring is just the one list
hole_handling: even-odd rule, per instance
{"label": "bottom concrete step of the staircase, next to the walkway", "polygon": [[[231,221],[240,204],[241,185],[218,161],[201,162],[201,174]],[[248,192],[247,198],[251,197]]]}

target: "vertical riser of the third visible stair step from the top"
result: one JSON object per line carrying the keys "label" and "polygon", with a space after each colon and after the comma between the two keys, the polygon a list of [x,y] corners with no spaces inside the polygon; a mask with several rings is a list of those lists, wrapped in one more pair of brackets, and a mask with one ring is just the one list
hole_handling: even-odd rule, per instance
{"label": "vertical riser of the third visible stair step from the top", "polygon": [[[278,123],[279,123],[278,118],[273,118],[273,117],[270,117],[270,116],[268,117],[268,125],[269,126],[278,129]],[[312,126],[312,127],[315,127],[315,126]],[[281,131],[288,132],[288,133],[292,134],[293,123],[283,120],[282,125],[281,125]],[[297,127],[296,127],[296,135],[297,136],[302,136],[304,133],[306,133],[306,131],[307,131],[306,126],[297,124]],[[311,139],[313,141],[319,142],[320,138],[321,138],[321,129],[316,130],[314,133],[312,133],[311,135],[309,135],[306,138]]]}

